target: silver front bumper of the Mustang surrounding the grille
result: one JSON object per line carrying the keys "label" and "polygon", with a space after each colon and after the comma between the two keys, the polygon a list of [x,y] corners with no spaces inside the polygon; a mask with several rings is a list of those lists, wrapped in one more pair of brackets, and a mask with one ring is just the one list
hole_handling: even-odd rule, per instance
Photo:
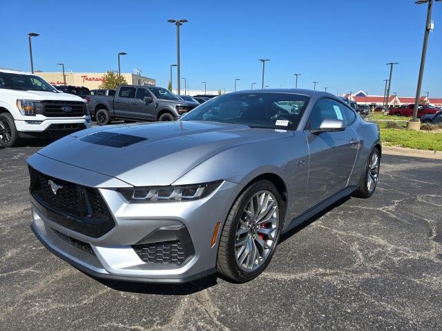
{"label": "silver front bumper of the Mustang surrounding the grille", "polygon": [[[215,272],[220,236],[219,232],[215,245],[211,245],[215,224],[220,222],[222,228],[231,203],[241,189],[241,185],[224,181],[209,197],[197,201],[127,203],[116,190],[99,188],[115,226],[98,238],[88,237],[60,225],[48,217],[39,203],[31,199],[31,228],[48,250],[93,277],[183,283]],[[185,227],[189,233],[193,252],[182,264],[161,261],[151,263],[143,260],[133,247],[164,227]],[[62,237],[69,237],[81,245],[86,244],[92,252]]]}

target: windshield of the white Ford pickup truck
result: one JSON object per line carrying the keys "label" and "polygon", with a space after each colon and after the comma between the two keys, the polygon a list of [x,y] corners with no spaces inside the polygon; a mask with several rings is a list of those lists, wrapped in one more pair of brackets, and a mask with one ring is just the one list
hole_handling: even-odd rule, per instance
{"label": "windshield of the white Ford pickup truck", "polygon": [[11,72],[0,72],[0,88],[58,93],[57,89],[41,77],[30,74],[13,74]]}

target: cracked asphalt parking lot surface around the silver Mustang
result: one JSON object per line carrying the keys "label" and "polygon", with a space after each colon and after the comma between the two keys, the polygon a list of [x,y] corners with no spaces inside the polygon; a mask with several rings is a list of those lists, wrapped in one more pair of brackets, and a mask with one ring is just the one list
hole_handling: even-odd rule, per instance
{"label": "cracked asphalt parking lot surface around the silver Mustang", "polygon": [[0,150],[0,330],[441,330],[442,161],[384,155],[371,199],[290,232],[246,284],[97,281],[29,228],[25,159]]}

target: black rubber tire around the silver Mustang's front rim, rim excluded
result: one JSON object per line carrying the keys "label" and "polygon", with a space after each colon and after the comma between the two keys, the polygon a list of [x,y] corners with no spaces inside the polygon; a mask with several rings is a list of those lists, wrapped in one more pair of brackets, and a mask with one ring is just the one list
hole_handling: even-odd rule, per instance
{"label": "black rubber tire around the silver Mustang's front rim, rim excluded", "polygon": [[[242,217],[242,213],[244,212],[244,208],[246,208],[247,203],[256,193],[262,190],[271,192],[271,194],[273,194],[273,196],[276,198],[276,201],[278,202],[279,222],[278,227],[276,228],[276,236],[274,237],[274,242],[269,255],[258,269],[247,272],[242,270],[236,261],[236,230],[238,229],[240,217]],[[285,203],[282,201],[280,193],[276,189],[275,185],[271,183],[271,181],[257,181],[244,190],[233,203],[229,215],[224,223],[224,227],[222,228],[220,245],[218,246],[218,258],[216,261],[218,273],[222,277],[236,283],[245,283],[258,277],[261,272],[267,268],[267,265],[269,265],[271,258],[273,257],[280,237],[284,217]]]}

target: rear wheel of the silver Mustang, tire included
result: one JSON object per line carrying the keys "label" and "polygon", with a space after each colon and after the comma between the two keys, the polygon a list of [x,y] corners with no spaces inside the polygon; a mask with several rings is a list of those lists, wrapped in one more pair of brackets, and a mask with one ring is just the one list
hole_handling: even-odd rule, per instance
{"label": "rear wheel of the silver Mustang, tire included", "polygon": [[378,183],[380,165],[381,154],[379,153],[378,148],[374,148],[372,154],[370,154],[368,158],[367,164],[365,165],[365,170],[359,181],[359,187],[353,193],[354,197],[369,198],[372,196]]}

